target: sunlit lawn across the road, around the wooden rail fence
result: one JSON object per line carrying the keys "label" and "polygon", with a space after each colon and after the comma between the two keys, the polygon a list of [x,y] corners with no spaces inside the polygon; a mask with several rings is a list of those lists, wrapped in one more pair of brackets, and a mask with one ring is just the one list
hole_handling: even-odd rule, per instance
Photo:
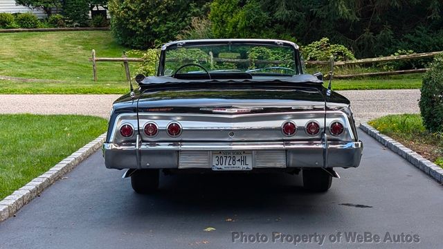
{"label": "sunlit lawn across the road, around the wooden rail fence", "polygon": [[[120,63],[98,62],[98,82],[92,79],[88,58],[93,48],[98,57],[120,57],[129,50],[116,44],[110,31],[2,33],[0,44],[0,75],[58,81],[0,80],[0,93],[105,94],[127,93],[129,89]],[[334,80],[332,88],[418,89],[421,85],[422,75],[399,75]]]}

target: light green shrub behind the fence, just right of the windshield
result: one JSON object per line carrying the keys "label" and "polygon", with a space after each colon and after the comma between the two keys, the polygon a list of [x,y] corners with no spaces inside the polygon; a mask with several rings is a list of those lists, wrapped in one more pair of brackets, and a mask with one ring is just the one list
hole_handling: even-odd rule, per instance
{"label": "light green shrub behind the fence, just right of the windshield", "polygon": [[329,39],[322,38],[320,41],[312,42],[307,46],[302,46],[302,55],[306,60],[327,61],[334,55],[335,61],[355,59],[354,54],[343,45],[330,44]]}

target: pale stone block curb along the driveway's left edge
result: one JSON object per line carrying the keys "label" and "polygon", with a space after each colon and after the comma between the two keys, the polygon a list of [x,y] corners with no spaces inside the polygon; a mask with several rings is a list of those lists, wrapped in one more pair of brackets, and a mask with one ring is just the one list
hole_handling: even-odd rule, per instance
{"label": "pale stone block curb along the driveway's left edge", "polygon": [[103,133],[95,140],[92,140],[87,145],[84,145],[84,147],[78,149],[78,151],[75,151],[71,156],[61,160],[60,163],[57,163],[57,165],[41,176],[34,178],[33,181],[30,181],[28,184],[24,185],[24,187],[21,187],[19,190],[6,196],[5,199],[0,201],[0,222],[5,221],[10,216],[14,216],[21,207],[39,196],[43,190],[51,186],[55,181],[62,178],[64,174],[70,172],[84,159],[100,149],[103,142],[105,142],[105,138],[106,133]]}

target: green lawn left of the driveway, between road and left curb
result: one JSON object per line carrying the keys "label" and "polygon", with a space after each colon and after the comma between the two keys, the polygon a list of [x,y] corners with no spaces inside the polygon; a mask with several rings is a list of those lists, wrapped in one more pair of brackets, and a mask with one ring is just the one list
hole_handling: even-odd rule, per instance
{"label": "green lawn left of the driveway, between road and left curb", "polygon": [[106,129],[91,116],[0,115],[0,200]]}

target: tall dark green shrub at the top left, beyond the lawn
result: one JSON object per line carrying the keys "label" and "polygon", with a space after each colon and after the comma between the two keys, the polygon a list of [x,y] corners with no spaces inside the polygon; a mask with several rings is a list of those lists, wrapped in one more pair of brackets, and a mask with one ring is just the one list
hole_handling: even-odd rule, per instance
{"label": "tall dark green shrub at the top left, beyond the lawn", "polygon": [[65,0],[63,15],[71,27],[89,26],[89,3],[87,0]]}

